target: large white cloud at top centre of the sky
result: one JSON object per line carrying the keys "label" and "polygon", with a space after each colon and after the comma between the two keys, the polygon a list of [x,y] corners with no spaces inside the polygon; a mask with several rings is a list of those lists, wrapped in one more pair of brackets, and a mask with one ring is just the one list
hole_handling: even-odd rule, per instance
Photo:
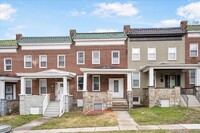
{"label": "large white cloud at top centre of the sky", "polygon": [[111,17],[111,16],[134,16],[139,13],[139,10],[133,6],[132,3],[121,4],[119,2],[115,3],[98,3],[97,8],[94,10],[93,14]]}

